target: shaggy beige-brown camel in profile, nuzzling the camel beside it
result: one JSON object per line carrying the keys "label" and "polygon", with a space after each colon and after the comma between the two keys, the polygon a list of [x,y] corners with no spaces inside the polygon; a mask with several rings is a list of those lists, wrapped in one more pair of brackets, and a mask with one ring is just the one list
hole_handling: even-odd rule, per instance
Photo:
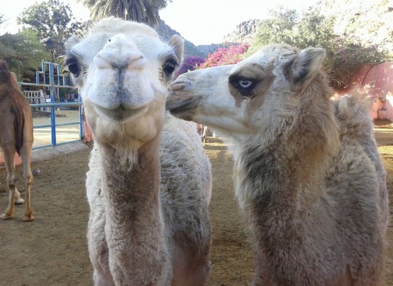
{"label": "shaggy beige-brown camel in profile, nuzzling the camel beside it", "polygon": [[369,103],[332,102],[323,49],[268,46],[188,72],[167,109],[233,144],[253,285],[380,285],[388,200]]}

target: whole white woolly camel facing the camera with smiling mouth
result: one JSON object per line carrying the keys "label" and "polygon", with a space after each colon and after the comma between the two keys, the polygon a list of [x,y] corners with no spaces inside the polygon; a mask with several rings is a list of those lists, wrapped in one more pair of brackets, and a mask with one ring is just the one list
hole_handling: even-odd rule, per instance
{"label": "whole white woolly camel facing the camera with smiling mouth", "polygon": [[195,124],[165,111],[183,39],[106,18],[71,37],[94,148],[86,174],[96,285],[204,285],[210,273],[211,170]]}

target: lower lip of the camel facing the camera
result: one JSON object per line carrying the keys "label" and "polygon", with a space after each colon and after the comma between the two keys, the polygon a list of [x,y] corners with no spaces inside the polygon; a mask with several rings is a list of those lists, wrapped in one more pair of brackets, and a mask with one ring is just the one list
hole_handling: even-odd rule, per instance
{"label": "lower lip of the camel facing the camera", "polygon": [[99,116],[116,123],[139,117],[145,113],[146,109],[146,106],[133,109],[125,108],[123,106],[119,106],[115,109],[107,109],[101,106],[96,106],[96,111]]}

